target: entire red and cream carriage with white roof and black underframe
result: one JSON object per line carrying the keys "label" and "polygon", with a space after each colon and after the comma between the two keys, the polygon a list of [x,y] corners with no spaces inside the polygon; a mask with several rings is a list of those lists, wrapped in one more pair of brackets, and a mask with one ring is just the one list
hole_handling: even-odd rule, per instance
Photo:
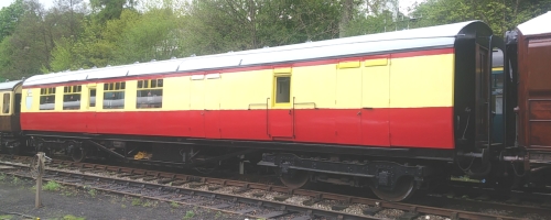
{"label": "entire red and cream carriage with white roof and black underframe", "polygon": [[25,146],[75,161],[245,155],[292,188],[326,182],[399,201],[451,175],[496,183],[523,163],[506,157],[525,155],[505,138],[515,96],[500,107],[509,127],[493,125],[495,48],[509,50],[469,21],[39,75],[22,84],[21,130]]}

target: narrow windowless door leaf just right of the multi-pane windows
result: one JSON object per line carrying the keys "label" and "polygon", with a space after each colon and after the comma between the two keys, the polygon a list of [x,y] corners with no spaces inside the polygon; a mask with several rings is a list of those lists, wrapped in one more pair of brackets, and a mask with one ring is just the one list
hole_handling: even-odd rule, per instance
{"label": "narrow windowless door leaf just right of the multi-pane windows", "polygon": [[193,75],[190,78],[190,135],[205,138],[205,75]]}

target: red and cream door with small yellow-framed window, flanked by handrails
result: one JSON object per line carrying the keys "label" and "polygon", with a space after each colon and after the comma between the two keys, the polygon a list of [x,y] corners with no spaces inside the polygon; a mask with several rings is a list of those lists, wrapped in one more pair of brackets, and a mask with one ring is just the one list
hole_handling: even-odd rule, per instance
{"label": "red and cream door with small yellow-framed window, flanked by handrails", "polygon": [[272,139],[293,139],[293,100],[291,68],[273,69],[272,108],[268,112],[269,134]]}

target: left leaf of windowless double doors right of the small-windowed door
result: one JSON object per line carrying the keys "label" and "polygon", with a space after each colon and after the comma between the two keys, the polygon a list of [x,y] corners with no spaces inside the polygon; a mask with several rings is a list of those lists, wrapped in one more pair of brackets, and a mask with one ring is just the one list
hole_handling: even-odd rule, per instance
{"label": "left leaf of windowless double doors right of the small-windowed door", "polygon": [[337,65],[335,125],[342,144],[361,144],[361,66],[360,61]]}

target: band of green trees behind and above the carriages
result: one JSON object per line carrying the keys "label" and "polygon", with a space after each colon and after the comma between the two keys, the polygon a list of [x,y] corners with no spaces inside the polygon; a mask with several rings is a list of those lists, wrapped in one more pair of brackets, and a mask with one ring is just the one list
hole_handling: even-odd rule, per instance
{"label": "band of green trees behind and above the carriages", "polygon": [[0,80],[482,20],[497,35],[551,0],[15,0],[0,10]]}

